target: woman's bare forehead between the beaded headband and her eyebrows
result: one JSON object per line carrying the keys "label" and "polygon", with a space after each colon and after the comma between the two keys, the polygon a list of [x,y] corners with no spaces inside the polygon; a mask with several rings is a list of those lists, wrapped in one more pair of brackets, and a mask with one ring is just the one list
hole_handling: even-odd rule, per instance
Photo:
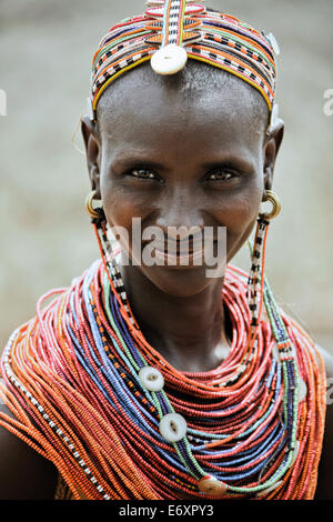
{"label": "woman's bare forehead between the beaded headband and her eyebrows", "polygon": [[[211,88],[183,89],[183,84],[140,81],[139,69],[101,98],[98,121],[102,140],[133,144],[201,141],[212,148],[221,140],[256,143],[266,126],[266,109],[244,82],[221,82]],[[142,73],[141,73],[142,78]],[[115,86],[114,86],[115,87]],[[258,107],[259,106],[259,107]],[[195,139],[196,137],[196,139]]]}

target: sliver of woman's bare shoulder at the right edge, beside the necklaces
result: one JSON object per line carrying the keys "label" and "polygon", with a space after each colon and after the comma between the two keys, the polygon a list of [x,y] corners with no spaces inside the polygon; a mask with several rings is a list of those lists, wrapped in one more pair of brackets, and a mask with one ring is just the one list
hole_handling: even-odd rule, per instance
{"label": "sliver of woman's bare shoulder at the right edge, beside the necklaces", "polygon": [[322,456],[319,466],[319,480],[315,499],[333,500],[333,355],[322,347],[316,345],[316,348],[322,354],[325,363],[327,388],[325,433]]}

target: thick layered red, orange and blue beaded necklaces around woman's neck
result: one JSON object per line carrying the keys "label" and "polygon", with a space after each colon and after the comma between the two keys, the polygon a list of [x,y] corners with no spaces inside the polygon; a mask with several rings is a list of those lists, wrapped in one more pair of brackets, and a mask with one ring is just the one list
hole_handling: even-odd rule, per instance
{"label": "thick layered red, orange and blue beaded necklaces around woman's neck", "polygon": [[[16,420],[0,423],[51,460],[75,499],[313,498],[323,361],[265,278],[252,267],[249,297],[245,272],[228,267],[230,353],[209,372],[176,371],[142,335],[94,227],[102,262],[41,298],[4,350],[1,395]],[[253,313],[258,285],[265,318],[262,302]]]}

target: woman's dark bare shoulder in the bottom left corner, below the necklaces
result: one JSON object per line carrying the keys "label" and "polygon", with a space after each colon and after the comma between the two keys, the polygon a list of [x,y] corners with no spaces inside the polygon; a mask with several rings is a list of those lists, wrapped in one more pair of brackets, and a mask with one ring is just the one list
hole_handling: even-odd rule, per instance
{"label": "woman's dark bare shoulder in the bottom left corner, below the necklaces", "polygon": [[[0,412],[13,416],[1,403]],[[57,480],[56,466],[3,428],[0,416],[0,500],[51,500]]]}

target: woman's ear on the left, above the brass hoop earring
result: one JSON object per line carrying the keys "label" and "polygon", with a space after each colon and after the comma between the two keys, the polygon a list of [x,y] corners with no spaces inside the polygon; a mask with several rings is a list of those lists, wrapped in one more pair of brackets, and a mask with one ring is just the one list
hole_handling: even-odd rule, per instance
{"label": "woman's ear on the left, above the brass hoop earring", "polygon": [[85,114],[81,118],[81,132],[85,148],[87,167],[91,182],[91,189],[97,191],[95,199],[101,199],[100,164],[101,145],[97,126]]}

